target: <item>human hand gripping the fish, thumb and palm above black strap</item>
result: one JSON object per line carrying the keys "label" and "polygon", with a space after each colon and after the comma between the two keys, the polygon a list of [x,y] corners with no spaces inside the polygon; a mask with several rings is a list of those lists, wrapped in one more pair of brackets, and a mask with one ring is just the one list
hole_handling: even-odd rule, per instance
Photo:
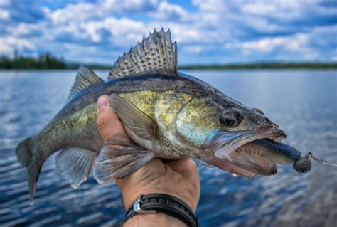
{"label": "human hand gripping the fish, thumb and palm above black strap", "polygon": [[[98,101],[97,127],[105,142],[118,134],[129,141],[119,117],[109,107],[109,97],[102,95]],[[124,206],[128,209],[140,194],[163,193],[183,200],[193,211],[200,197],[198,168],[192,159],[152,159],[134,174],[116,180],[122,191]]]}

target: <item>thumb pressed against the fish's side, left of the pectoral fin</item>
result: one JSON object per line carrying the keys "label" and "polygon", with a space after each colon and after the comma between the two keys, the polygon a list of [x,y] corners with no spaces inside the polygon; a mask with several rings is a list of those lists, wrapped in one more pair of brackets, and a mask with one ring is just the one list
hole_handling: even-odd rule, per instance
{"label": "thumb pressed against the fish's side, left of the pectoral fin", "polygon": [[116,134],[121,134],[123,137],[129,139],[119,117],[112,107],[109,106],[109,96],[101,95],[98,97],[97,111],[97,127],[104,142]]}

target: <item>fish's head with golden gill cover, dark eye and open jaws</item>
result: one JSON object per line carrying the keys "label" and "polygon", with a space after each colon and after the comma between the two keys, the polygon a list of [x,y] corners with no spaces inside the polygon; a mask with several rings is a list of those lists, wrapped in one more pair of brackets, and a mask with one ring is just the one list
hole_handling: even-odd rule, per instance
{"label": "fish's head with golden gill cover, dark eye and open jaws", "polygon": [[179,112],[180,137],[198,150],[195,156],[225,171],[243,176],[272,175],[277,164],[257,155],[238,152],[257,139],[286,137],[283,130],[257,108],[250,108],[223,95],[221,99],[195,98]]}

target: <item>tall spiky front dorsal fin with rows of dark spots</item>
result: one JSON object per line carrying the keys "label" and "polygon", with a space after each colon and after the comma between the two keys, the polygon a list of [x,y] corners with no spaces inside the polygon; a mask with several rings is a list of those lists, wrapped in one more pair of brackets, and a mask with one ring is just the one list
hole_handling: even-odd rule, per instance
{"label": "tall spiky front dorsal fin with rows of dark spots", "polygon": [[109,80],[144,73],[175,74],[177,68],[176,42],[172,43],[170,30],[163,28],[150,33],[141,43],[119,57],[109,73]]}

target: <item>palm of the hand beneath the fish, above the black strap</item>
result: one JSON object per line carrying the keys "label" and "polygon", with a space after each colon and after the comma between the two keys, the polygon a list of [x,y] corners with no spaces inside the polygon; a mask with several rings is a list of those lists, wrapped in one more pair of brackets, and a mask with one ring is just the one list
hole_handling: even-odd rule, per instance
{"label": "palm of the hand beneath the fish, above the black strap", "polygon": [[[192,159],[163,162],[155,158],[131,176],[119,179],[116,183],[122,191],[132,189],[137,195],[171,194],[186,201],[193,211],[196,209],[200,196],[198,168]],[[137,196],[132,195],[133,199],[134,197]]]}

